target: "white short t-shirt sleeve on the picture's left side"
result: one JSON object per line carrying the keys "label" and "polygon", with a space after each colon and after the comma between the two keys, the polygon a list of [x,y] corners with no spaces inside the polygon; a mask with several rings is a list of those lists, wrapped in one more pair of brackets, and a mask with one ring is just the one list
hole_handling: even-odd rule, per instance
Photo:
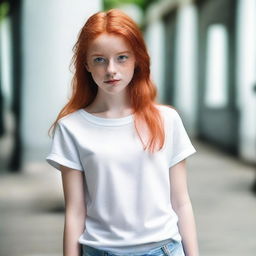
{"label": "white short t-shirt sleeve on the picture's left side", "polygon": [[51,141],[50,153],[46,157],[46,161],[58,170],[60,170],[60,165],[64,165],[83,171],[74,138],[60,122],[57,123]]}

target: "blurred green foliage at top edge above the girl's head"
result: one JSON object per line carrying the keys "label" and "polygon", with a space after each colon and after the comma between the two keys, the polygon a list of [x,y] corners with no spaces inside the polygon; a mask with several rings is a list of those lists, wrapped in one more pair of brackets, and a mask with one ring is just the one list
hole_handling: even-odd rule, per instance
{"label": "blurred green foliage at top edge above the girl's head", "polygon": [[109,10],[123,4],[135,4],[145,11],[150,4],[157,1],[160,0],[104,0],[103,3],[104,10]]}

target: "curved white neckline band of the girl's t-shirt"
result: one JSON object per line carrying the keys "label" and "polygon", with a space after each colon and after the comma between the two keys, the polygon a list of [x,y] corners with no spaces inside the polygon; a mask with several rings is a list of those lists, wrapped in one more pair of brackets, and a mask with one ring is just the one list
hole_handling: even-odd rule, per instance
{"label": "curved white neckline band of the girl's t-shirt", "polygon": [[119,118],[106,118],[93,115],[87,112],[85,109],[79,109],[80,113],[90,122],[103,126],[120,126],[132,123],[134,120],[134,114],[128,116],[119,117]]}

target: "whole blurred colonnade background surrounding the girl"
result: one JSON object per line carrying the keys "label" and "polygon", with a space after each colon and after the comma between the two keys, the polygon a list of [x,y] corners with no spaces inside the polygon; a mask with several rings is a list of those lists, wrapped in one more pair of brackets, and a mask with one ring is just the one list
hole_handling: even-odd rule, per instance
{"label": "whole blurred colonnade background surrounding the girl", "polygon": [[78,32],[119,8],[143,31],[158,100],[179,111],[200,255],[256,251],[255,0],[0,0],[0,255],[60,256],[47,132],[70,95]]}

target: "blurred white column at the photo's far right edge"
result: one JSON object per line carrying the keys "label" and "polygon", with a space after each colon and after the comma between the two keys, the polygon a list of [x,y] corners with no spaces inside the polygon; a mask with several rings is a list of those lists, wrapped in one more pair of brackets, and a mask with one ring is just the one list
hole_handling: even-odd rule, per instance
{"label": "blurred white column at the photo's far right edge", "polygon": [[237,105],[240,109],[240,155],[255,162],[256,156],[256,1],[238,1]]}

